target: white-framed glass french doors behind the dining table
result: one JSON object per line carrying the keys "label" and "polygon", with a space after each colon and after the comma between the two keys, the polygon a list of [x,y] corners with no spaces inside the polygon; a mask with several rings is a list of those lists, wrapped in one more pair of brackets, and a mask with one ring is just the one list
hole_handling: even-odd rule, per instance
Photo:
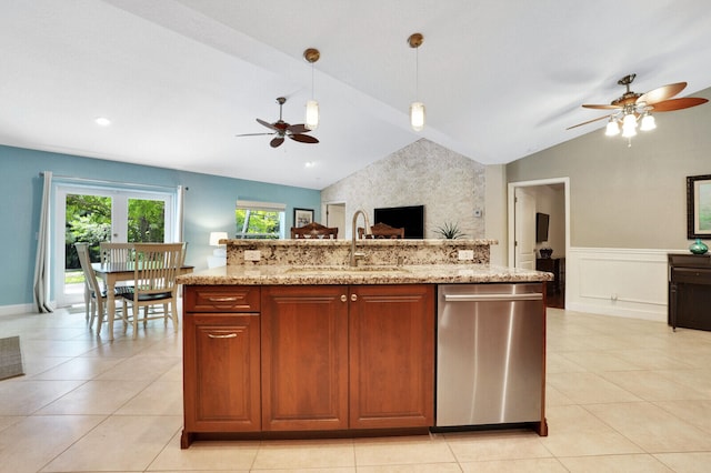
{"label": "white-framed glass french doors behind the dining table", "polygon": [[58,184],[54,197],[53,274],[58,306],[83,302],[83,274],[73,243],[171,242],[174,194]]}

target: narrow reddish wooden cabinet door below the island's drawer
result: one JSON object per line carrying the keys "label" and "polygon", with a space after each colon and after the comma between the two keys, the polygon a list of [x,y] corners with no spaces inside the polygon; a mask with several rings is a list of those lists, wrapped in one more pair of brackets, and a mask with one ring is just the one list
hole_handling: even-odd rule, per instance
{"label": "narrow reddish wooden cabinet door below the island's drawer", "polygon": [[259,314],[187,313],[187,432],[261,430]]}

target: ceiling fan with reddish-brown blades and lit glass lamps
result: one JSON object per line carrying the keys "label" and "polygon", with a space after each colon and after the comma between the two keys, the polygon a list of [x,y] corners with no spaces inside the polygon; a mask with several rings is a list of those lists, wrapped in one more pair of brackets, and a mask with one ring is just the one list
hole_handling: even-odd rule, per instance
{"label": "ceiling fan with reddish-brown blades and lit glass lamps", "polygon": [[708,102],[707,99],[700,99],[695,97],[685,97],[682,99],[672,99],[681,92],[687,82],[670,83],[660,88],[650,90],[647,93],[637,93],[630,90],[630,84],[634,81],[637,74],[629,74],[618,81],[618,84],[624,85],[627,91],[619,98],[614,99],[607,104],[583,104],[587,109],[598,110],[613,110],[603,117],[588,120],[582,123],[574,124],[567,128],[582,127],[583,124],[592,123],[599,120],[609,119],[605,134],[614,135],[620,132],[620,124],[622,123],[622,137],[630,138],[637,133],[637,121],[641,117],[640,130],[651,130],[655,128],[654,118],[652,112],[671,112],[674,110],[688,109],[690,107],[697,107]]}

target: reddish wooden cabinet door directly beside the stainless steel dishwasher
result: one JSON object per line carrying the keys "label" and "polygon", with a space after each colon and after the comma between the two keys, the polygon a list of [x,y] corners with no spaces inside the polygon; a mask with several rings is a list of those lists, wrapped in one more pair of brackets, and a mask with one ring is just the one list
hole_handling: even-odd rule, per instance
{"label": "reddish wooden cabinet door directly beside the stainless steel dishwasher", "polygon": [[350,286],[350,427],[434,424],[434,286]]}

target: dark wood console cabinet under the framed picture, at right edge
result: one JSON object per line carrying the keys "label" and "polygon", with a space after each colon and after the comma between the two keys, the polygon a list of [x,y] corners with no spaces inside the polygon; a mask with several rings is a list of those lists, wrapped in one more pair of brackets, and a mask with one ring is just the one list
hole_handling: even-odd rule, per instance
{"label": "dark wood console cabinet under the framed picture, at right edge", "polygon": [[668,323],[711,330],[711,254],[670,253],[668,260]]}

